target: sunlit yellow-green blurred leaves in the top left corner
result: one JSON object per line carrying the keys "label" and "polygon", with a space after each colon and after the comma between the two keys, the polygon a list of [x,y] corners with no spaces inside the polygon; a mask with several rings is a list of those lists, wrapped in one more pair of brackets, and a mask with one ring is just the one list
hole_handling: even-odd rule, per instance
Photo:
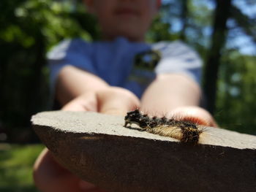
{"label": "sunlit yellow-green blurred leaves in the top left corner", "polygon": [[[5,1],[4,1],[5,2]],[[60,39],[68,37],[83,37],[91,40],[91,35],[75,20],[76,15],[89,18],[85,11],[72,12],[69,1],[61,3],[51,0],[26,0],[17,1],[11,12],[5,12],[2,18],[6,20],[1,27],[0,38],[6,42],[15,42],[23,47],[33,46],[37,38],[45,37],[45,45],[51,47]],[[6,5],[8,7],[8,4]],[[74,14],[73,14],[74,13]]]}

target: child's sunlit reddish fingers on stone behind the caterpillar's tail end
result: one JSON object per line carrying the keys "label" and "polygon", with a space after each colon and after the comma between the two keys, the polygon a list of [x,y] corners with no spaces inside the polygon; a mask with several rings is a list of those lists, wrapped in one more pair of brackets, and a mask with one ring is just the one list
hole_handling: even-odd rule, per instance
{"label": "child's sunlit reddish fingers on stone behind the caterpillar's tail end", "polygon": [[170,115],[174,118],[190,120],[204,126],[218,126],[208,111],[196,106],[178,107],[176,110],[173,110]]}

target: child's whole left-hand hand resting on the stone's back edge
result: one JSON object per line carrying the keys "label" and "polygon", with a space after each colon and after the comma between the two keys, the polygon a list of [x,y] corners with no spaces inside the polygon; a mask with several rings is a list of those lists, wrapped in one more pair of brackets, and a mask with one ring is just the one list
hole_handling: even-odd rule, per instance
{"label": "child's whole left-hand hand resting on the stone's back edge", "polygon": [[139,107],[139,105],[139,99],[132,92],[124,88],[109,87],[99,91],[83,93],[64,105],[62,110],[125,115],[128,111]]}

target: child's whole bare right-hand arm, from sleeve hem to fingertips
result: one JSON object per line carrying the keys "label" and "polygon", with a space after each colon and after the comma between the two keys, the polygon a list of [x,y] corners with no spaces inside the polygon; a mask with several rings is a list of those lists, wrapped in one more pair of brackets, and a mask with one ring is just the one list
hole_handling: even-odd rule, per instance
{"label": "child's whole bare right-hand arm, from sleeve hem to fingertips", "polygon": [[159,74],[141,99],[141,109],[153,115],[178,115],[206,126],[217,126],[200,103],[199,85],[182,74]]}

